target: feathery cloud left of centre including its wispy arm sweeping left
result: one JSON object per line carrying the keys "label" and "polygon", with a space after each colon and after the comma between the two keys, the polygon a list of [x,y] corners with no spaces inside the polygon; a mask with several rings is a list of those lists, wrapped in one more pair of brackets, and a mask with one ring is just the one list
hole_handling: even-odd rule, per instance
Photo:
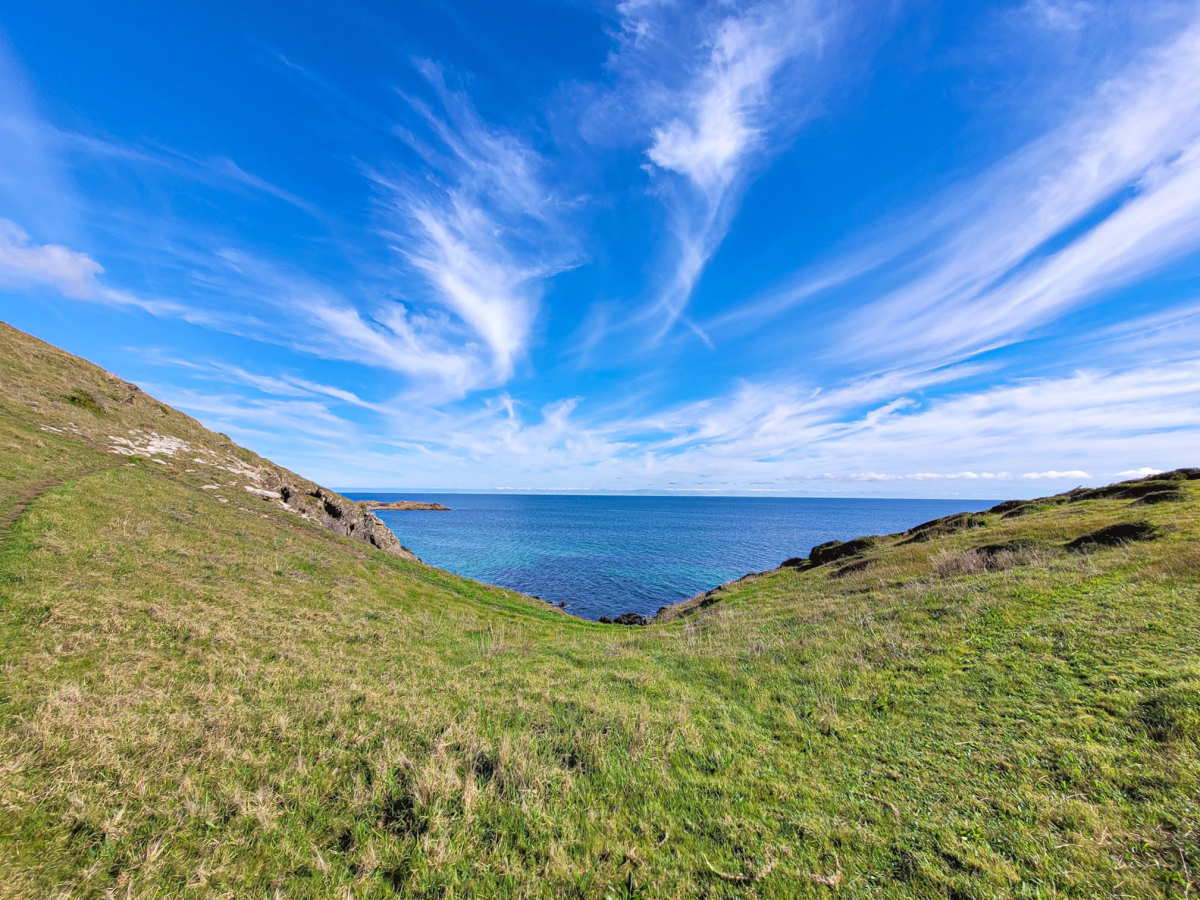
{"label": "feathery cloud left of centre including its wispy arm sweeping left", "polygon": [[436,102],[401,95],[409,114],[390,133],[419,164],[362,167],[391,263],[378,260],[354,292],[233,248],[192,265],[203,268],[209,293],[294,325],[238,334],[401,373],[404,396],[428,409],[512,377],[547,280],[575,263],[577,248],[562,220],[566,204],[542,178],[544,158],[485,122],[439,67],[416,66]]}

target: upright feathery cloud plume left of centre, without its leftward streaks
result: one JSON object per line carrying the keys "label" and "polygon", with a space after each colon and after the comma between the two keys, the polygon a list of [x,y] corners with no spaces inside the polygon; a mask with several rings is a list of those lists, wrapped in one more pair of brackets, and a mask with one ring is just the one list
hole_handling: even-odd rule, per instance
{"label": "upright feathery cloud plume left of centre, without its leftward streaks", "polygon": [[578,251],[542,157],[516,133],[487,125],[438,66],[418,67],[438,108],[406,95],[413,127],[394,133],[421,169],[370,174],[389,210],[392,250],[425,278],[426,299],[450,314],[451,329],[462,326],[467,353],[476,350],[462,388],[496,385],[528,350],[546,281],[575,265]]}

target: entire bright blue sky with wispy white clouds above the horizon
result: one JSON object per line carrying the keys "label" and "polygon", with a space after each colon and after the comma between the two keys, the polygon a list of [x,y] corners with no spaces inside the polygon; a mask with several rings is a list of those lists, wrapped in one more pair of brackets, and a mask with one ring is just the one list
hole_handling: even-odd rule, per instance
{"label": "entire bright blue sky with wispy white clouds above the horizon", "polygon": [[1200,464],[1200,5],[8,5],[0,318],[343,488]]}

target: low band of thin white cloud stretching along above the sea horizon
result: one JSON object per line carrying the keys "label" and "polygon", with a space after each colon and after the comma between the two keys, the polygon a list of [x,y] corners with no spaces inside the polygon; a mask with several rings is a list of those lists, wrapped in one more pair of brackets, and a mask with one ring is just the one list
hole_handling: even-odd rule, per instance
{"label": "low band of thin white cloud stretching along above the sea horizon", "polygon": [[[294,427],[316,403],[319,430],[337,433],[336,414],[316,391],[298,401],[296,386],[284,380],[245,384],[265,397],[180,400],[188,408],[209,403],[204,408],[218,412],[232,433],[256,436],[275,419]],[[348,421],[343,433],[360,436],[361,484],[732,493],[869,487],[899,496],[920,485],[984,497],[1151,474],[1188,462],[1200,438],[1196,360],[935,396],[924,386],[929,382],[916,374],[824,391],[744,384],[703,402],[620,418],[580,398],[535,409],[506,395],[457,409],[382,404],[377,424]]]}

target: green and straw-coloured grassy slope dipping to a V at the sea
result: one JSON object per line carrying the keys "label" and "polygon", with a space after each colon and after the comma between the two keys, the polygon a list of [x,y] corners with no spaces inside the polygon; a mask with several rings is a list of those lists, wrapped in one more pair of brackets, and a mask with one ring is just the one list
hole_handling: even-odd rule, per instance
{"label": "green and straw-coloured grassy slope dipping to a V at the sea", "polygon": [[622,628],[170,438],[265,464],[0,330],[0,896],[1200,889],[1198,480],[827,547]]}

